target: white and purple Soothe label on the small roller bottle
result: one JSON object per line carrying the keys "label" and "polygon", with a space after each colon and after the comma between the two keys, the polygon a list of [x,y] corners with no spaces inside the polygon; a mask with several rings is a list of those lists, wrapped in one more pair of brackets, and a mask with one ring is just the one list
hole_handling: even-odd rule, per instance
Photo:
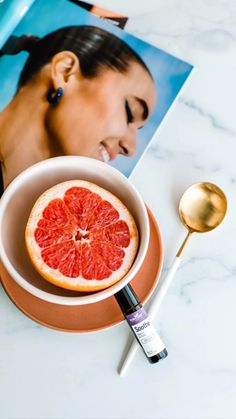
{"label": "white and purple Soothe label on the small roller bottle", "polygon": [[148,357],[157,355],[165,349],[164,343],[158,336],[143,307],[134,313],[127,314],[125,317]]}

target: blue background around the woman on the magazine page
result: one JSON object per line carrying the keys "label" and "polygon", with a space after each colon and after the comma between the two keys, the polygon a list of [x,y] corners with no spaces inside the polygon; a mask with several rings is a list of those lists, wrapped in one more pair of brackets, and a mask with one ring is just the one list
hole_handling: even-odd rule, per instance
{"label": "blue background around the woman on the magazine page", "polygon": [[[129,176],[193,67],[163,50],[127,34],[107,21],[93,16],[68,0],[35,0],[13,33],[17,36],[32,34],[42,37],[62,26],[82,24],[102,27],[123,39],[141,55],[150,69],[158,89],[158,101],[154,113],[149,123],[138,132],[135,156],[132,158],[119,156],[111,163],[112,166]],[[21,52],[18,55],[4,56],[0,59],[0,110],[14,95],[19,74],[27,57],[28,53]],[[6,76],[4,77],[4,75]]]}

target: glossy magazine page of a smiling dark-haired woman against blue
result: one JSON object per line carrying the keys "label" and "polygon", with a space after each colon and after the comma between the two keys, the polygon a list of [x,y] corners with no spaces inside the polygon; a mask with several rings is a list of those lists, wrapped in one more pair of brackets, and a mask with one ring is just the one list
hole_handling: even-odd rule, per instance
{"label": "glossy magazine page of a smiling dark-haired woman against blue", "polygon": [[3,14],[1,22],[4,186],[61,154],[98,158],[129,176],[193,67],[99,19],[84,2],[16,3],[18,24],[12,11],[11,25]]}

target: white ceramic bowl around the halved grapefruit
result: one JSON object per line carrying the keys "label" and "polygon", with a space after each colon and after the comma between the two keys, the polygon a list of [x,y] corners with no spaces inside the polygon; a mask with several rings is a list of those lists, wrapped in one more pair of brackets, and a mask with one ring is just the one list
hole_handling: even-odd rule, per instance
{"label": "white ceramic bowl around the halved grapefruit", "polygon": [[[54,286],[34,269],[25,246],[25,227],[37,198],[57,183],[83,179],[111,191],[132,213],[140,236],[129,272],[109,288],[80,293]],[[88,157],[63,156],[44,160],[18,175],[0,200],[0,258],[10,276],[26,291],[56,304],[81,305],[101,301],[123,288],[140,269],[149,243],[149,220],[144,202],[131,182],[113,167]]]}

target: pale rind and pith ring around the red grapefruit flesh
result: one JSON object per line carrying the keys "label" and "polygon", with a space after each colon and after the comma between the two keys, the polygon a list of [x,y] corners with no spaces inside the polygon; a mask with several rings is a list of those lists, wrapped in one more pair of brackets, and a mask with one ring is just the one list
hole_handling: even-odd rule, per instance
{"label": "pale rind and pith ring around the red grapefruit flesh", "polygon": [[[49,202],[57,198],[63,199],[65,192],[72,187],[82,187],[89,189],[91,192],[98,194],[103,200],[109,201],[119,212],[119,220],[125,221],[129,227],[130,243],[127,248],[122,247],[122,250],[125,252],[123,263],[121,267],[113,271],[108,278],[98,280],[84,279],[82,276],[75,278],[67,277],[63,275],[59,270],[49,267],[42,259],[42,248],[35,240],[35,230],[37,228],[38,221],[42,218],[42,213]],[[36,270],[44,279],[65,289],[81,292],[93,292],[108,288],[109,286],[121,280],[127,274],[134,262],[137,253],[139,235],[133,216],[126,208],[126,206],[115,195],[92,182],[84,180],[70,180],[53,186],[38,198],[32,208],[27,222],[25,230],[25,241],[30,259]]]}

